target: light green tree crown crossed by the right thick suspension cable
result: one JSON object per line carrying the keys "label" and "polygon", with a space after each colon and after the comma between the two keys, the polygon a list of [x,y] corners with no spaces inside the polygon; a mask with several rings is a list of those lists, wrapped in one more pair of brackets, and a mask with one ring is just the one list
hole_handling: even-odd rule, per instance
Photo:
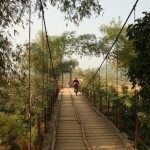
{"label": "light green tree crown crossed by the right thick suspension cable", "polygon": [[[109,25],[100,26],[99,29],[103,35],[100,40],[100,47],[103,55],[107,54],[110,50],[110,47],[115,41],[121,28],[122,21],[120,18],[118,18],[118,21],[115,21],[114,19],[111,20]],[[121,69],[128,69],[128,63],[133,57],[133,47],[126,36],[126,28],[127,27],[122,31],[109,55],[109,58],[115,64],[118,61],[118,67]]]}

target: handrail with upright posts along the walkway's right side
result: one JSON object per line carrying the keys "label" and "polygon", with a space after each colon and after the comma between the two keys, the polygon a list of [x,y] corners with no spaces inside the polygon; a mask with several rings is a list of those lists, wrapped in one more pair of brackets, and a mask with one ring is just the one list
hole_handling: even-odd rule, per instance
{"label": "handrail with upright posts along the walkway's right side", "polygon": [[[135,112],[132,112],[132,110],[123,106],[122,104],[113,104],[111,100],[111,105],[107,105],[105,95],[100,94],[100,92],[96,91],[94,88],[90,90],[80,86],[79,91],[99,112],[105,115],[116,127],[118,127],[121,132],[130,135],[129,137],[131,140],[134,140],[133,145],[135,148],[143,145],[145,150],[150,149],[146,144],[144,144],[144,142],[142,142],[142,140],[140,140],[141,137],[138,136],[140,120],[138,119],[136,110]],[[110,99],[110,97],[108,98]],[[108,112],[108,107],[110,112]]]}

